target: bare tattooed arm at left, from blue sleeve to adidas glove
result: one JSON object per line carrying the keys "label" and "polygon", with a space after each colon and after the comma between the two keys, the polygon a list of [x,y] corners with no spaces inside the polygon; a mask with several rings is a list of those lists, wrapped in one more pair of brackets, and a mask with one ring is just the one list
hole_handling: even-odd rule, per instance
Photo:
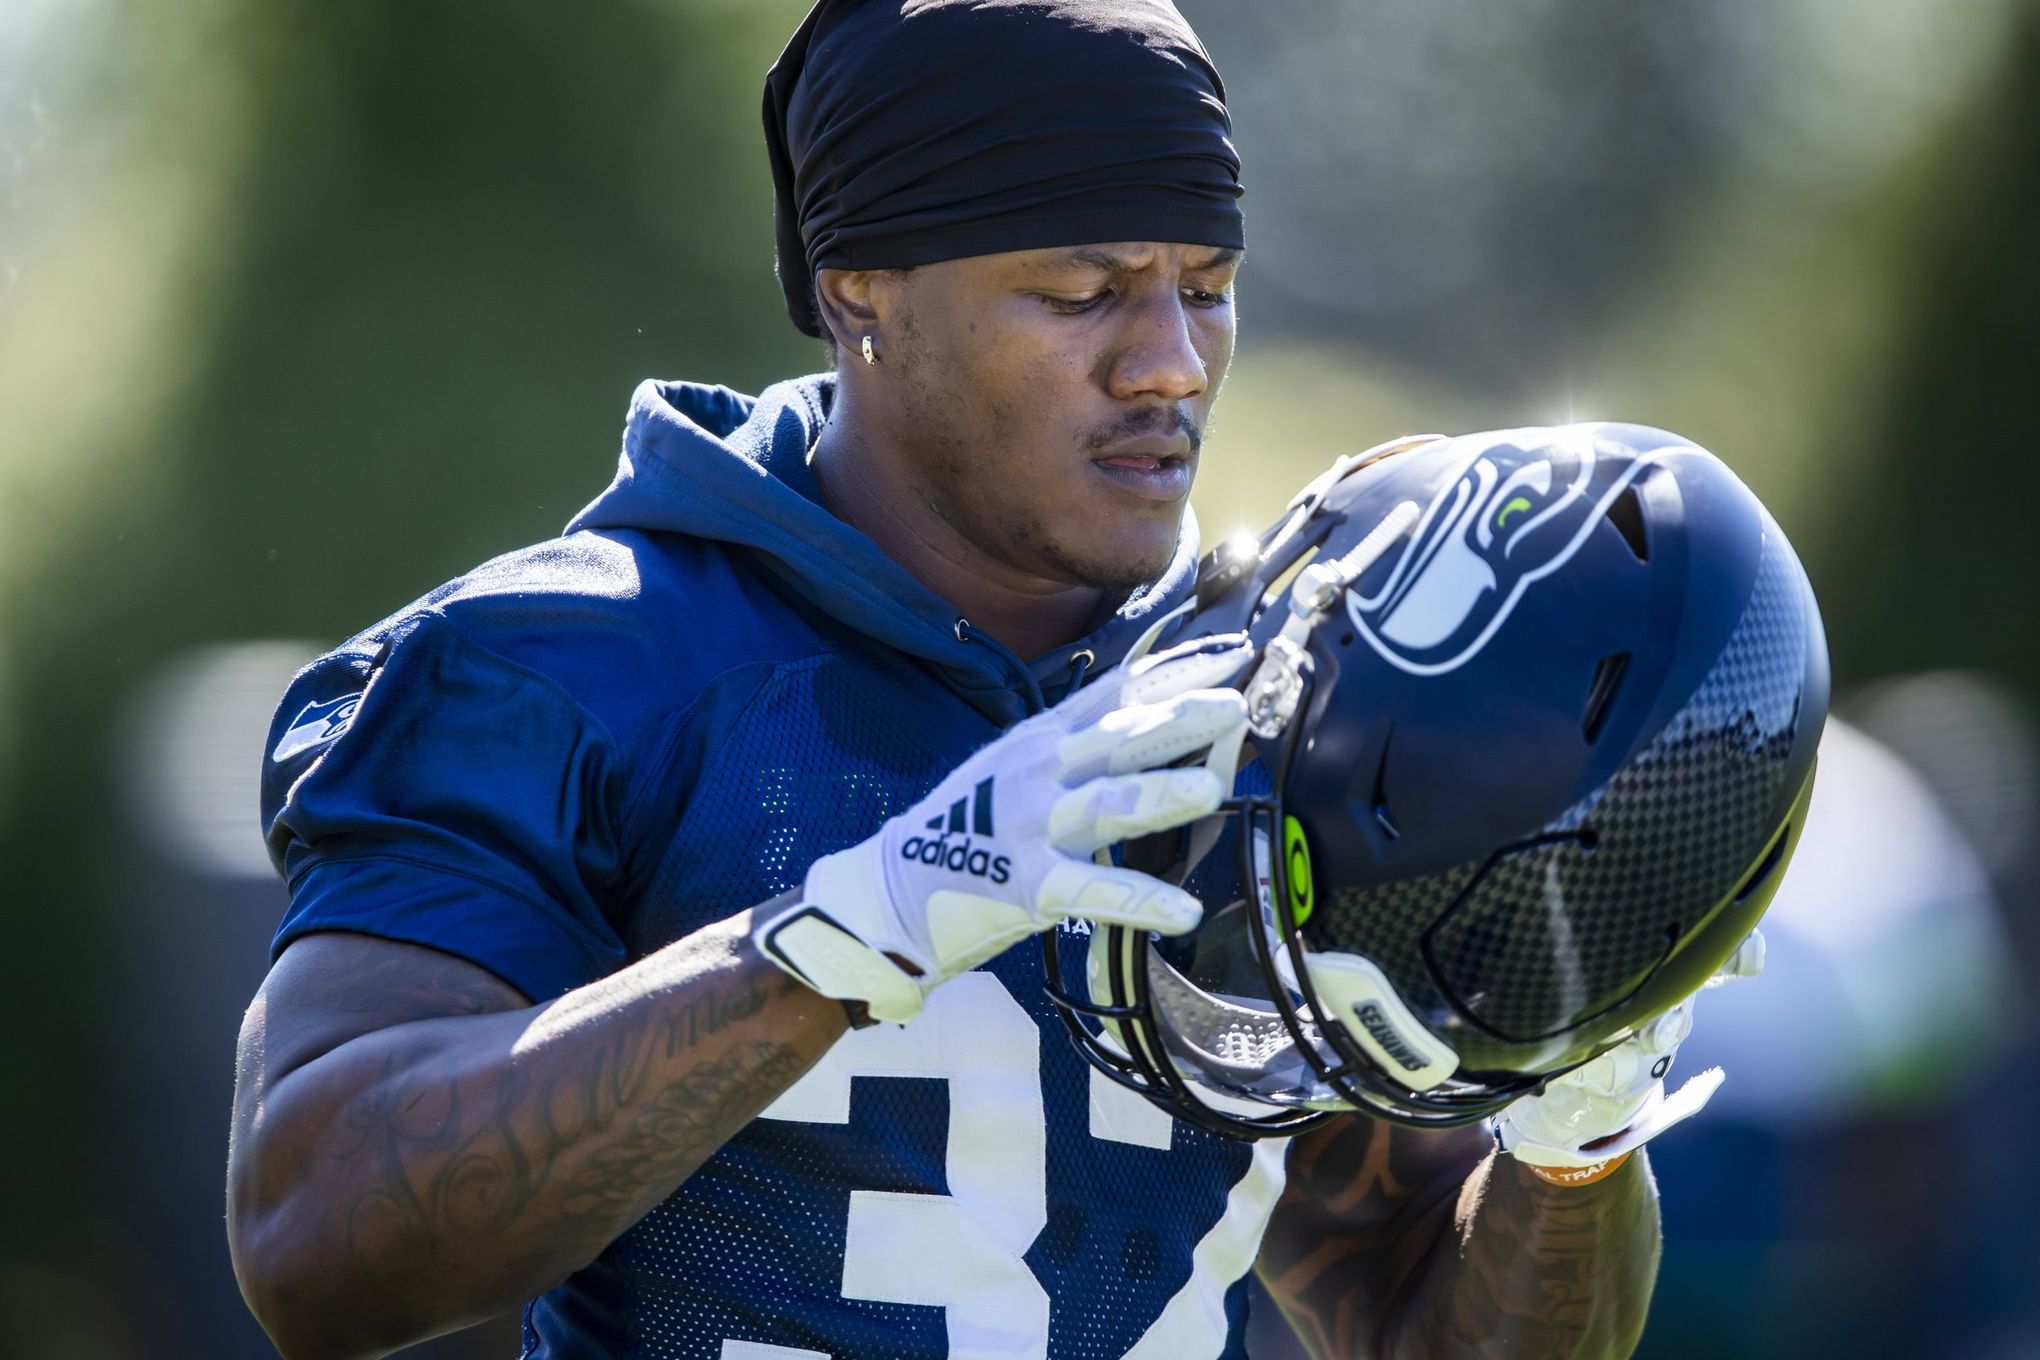
{"label": "bare tattooed arm at left, from blue sleeve to adidas glove", "polygon": [[292,944],[241,1032],[228,1240],[292,1360],[379,1356],[588,1264],[845,1032],[749,913],[549,1005],[437,950]]}

